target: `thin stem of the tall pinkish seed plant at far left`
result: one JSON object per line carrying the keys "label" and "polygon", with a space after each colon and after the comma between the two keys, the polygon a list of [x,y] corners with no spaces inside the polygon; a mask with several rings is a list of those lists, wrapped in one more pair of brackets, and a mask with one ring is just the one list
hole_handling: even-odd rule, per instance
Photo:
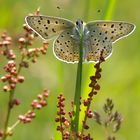
{"label": "thin stem of the tall pinkish seed plant at far left", "polygon": [[[22,56],[21,58],[21,62],[24,60],[24,56]],[[17,70],[17,75],[20,73],[21,71],[21,66],[19,65],[19,68]],[[4,124],[4,136],[2,138],[2,140],[6,140],[7,136],[8,136],[8,124],[9,124],[9,119],[10,119],[10,114],[11,114],[11,110],[12,110],[12,107],[11,107],[11,102],[14,98],[14,93],[15,93],[15,90],[11,90],[9,92],[9,100],[8,100],[8,109],[7,109],[7,115],[6,115],[6,120],[5,120],[5,124]]]}

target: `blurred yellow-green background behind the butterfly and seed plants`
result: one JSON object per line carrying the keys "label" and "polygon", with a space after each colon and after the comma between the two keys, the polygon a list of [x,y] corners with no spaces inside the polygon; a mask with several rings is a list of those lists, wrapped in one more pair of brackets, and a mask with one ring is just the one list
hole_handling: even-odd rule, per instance
{"label": "blurred yellow-green background behind the butterfly and seed plants", "polygon": [[[113,0],[112,0],[113,1]],[[17,38],[22,36],[22,24],[24,18],[29,13],[34,12],[38,7],[41,8],[43,15],[59,16],[75,21],[83,19],[84,21],[103,20],[106,15],[107,4],[111,0],[1,0],[0,1],[0,33],[7,31],[15,38],[15,50]],[[60,7],[60,8],[58,8]],[[109,11],[112,20],[123,20],[134,23],[137,28],[135,32],[117,43],[113,44],[112,56],[102,65],[103,72],[100,80],[101,90],[94,98],[92,108],[100,111],[106,98],[114,100],[116,109],[124,117],[122,128],[117,134],[118,140],[137,140],[140,138],[140,47],[138,45],[140,35],[139,18],[139,0],[116,1],[114,7]],[[113,13],[112,13],[113,12]],[[107,16],[106,19],[111,19]],[[39,38],[34,46],[40,46],[42,40]],[[18,52],[17,52],[18,53]],[[0,67],[5,64],[0,56]],[[38,112],[36,119],[27,125],[19,125],[15,129],[12,138],[20,140],[46,140],[54,135],[59,139],[59,135],[54,134],[55,116],[56,116],[56,97],[58,93],[63,92],[67,102],[66,109],[73,100],[76,78],[76,66],[66,64],[57,60],[52,53],[52,42],[46,56],[41,57],[30,69],[25,69],[22,74],[26,81],[19,85],[16,90],[16,97],[22,104],[12,112],[11,124],[13,124],[18,114],[23,114],[28,109],[30,102],[47,87],[51,93],[49,105],[46,109]],[[87,80],[88,70],[92,71],[93,64],[84,64],[83,85]],[[0,70],[0,76],[2,69]],[[0,87],[2,87],[0,83]],[[85,87],[85,86],[84,86]],[[2,89],[2,88],[1,88]],[[4,115],[8,95],[0,90],[0,128],[3,126]],[[91,133],[95,140],[104,140],[104,131],[93,122]]]}

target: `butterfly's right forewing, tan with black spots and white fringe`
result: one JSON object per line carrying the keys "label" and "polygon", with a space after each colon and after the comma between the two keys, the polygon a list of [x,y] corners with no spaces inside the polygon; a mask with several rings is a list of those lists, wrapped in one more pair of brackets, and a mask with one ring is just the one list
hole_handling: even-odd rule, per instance
{"label": "butterfly's right forewing, tan with black spots and white fringe", "polygon": [[131,23],[113,21],[95,21],[87,23],[86,27],[90,32],[96,32],[100,36],[107,37],[112,43],[129,35],[135,28]]}

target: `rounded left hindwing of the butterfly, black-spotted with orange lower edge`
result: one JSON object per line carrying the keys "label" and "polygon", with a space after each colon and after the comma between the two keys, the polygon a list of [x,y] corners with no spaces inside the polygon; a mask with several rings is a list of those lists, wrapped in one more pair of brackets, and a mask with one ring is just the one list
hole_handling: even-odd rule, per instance
{"label": "rounded left hindwing of the butterfly, black-spotted with orange lower edge", "polygon": [[67,63],[77,63],[79,61],[80,42],[74,30],[75,28],[62,32],[53,45],[55,56]]}

